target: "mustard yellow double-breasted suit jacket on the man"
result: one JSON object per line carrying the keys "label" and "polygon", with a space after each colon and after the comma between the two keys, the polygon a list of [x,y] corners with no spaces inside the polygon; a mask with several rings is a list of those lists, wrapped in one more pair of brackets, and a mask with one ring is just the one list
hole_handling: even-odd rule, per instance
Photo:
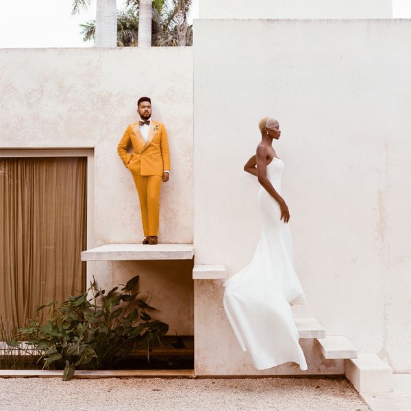
{"label": "mustard yellow double-breasted suit jacket on the man", "polygon": [[[139,121],[129,124],[117,147],[124,165],[136,175],[163,175],[164,170],[170,171],[169,140],[164,124],[151,121],[147,142],[139,126]],[[133,153],[127,151],[130,143]]]}

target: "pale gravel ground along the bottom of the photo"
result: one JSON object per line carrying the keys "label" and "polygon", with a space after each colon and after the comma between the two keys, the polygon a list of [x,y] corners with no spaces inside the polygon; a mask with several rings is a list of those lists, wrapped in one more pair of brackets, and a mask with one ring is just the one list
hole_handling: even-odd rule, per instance
{"label": "pale gravel ground along the bottom of the photo", "polygon": [[369,411],[345,379],[0,378],[7,411]]}

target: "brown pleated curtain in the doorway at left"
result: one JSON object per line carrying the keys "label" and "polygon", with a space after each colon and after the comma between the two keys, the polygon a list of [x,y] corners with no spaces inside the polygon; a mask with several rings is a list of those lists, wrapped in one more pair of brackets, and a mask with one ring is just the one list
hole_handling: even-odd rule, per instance
{"label": "brown pleated curtain in the doorway at left", "polygon": [[0,315],[6,327],[86,283],[87,159],[0,158]]}

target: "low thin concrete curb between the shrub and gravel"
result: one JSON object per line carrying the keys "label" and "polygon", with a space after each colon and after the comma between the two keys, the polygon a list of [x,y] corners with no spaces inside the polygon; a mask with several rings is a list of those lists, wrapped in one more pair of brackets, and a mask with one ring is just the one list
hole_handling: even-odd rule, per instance
{"label": "low thin concrete curb between the shrub and gravel", "polygon": [[[0,378],[55,378],[63,377],[59,370],[0,370]],[[193,370],[101,370],[75,371],[75,378],[194,378]]]}

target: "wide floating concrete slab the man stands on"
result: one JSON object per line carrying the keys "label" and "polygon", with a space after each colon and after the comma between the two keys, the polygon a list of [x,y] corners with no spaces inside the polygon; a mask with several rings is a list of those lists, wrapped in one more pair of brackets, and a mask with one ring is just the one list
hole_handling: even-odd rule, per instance
{"label": "wide floating concrete slab the man stands on", "polygon": [[192,244],[106,244],[82,252],[82,261],[191,260]]}

